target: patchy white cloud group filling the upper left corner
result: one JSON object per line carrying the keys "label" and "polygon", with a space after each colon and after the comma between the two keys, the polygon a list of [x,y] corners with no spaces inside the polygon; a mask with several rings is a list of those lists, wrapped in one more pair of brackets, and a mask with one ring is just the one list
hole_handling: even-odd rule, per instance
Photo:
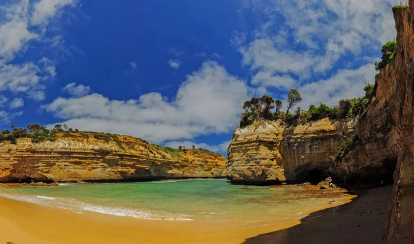
{"label": "patchy white cloud group filling the upper left corner", "polygon": [[[26,93],[33,100],[45,98],[46,86],[42,81],[57,75],[54,62],[47,57],[37,62],[16,64],[17,53],[23,53],[30,41],[41,41],[46,24],[63,7],[74,4],[68,0],[41,0],[34,3],[21,0],[2,6],[0,14],[0,91]],[[41,24],[41,28],[36,25]]]}

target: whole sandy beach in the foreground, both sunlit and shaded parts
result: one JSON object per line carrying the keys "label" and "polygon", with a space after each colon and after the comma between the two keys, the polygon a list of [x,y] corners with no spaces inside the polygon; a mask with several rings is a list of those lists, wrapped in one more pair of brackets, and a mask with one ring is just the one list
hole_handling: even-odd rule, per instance
{"label": "whole sandy beach in the foreground, both sunlit and shaded parts", "polygon": [[[0,243],[379,243],[391,187],[358,191],[351,203],[289,225],[248,227],[139,220],[0,198]],[[302,222],[302,223],[301,223]],[[335,241],[333,241],[335,240]]]}

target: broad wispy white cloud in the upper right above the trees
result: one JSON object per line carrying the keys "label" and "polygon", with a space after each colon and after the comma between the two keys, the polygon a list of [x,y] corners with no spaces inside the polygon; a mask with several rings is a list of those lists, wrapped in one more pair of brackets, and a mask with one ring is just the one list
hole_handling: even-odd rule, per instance
{"label": "broad wispy white cloud in the upper right above the trees", "polygon": [[[358,59],[362,50],[375,53],[395,37],[389,0],[246,0],[244,4],[244,10],[253,11],[262,24],[253,32],[234,32],[230,42],[252,72],[251,84],[262,91],[298,88],[304,100],[315,104],[361,94],[364,84],[349,77],[359,77],[364,71],[373,82],[375,70],[367,63],[372,64],[375,56],[365,62],[359,59],[353,69],[343,69],[337,61]],[[311,79],[326,74],[334,75]]]}

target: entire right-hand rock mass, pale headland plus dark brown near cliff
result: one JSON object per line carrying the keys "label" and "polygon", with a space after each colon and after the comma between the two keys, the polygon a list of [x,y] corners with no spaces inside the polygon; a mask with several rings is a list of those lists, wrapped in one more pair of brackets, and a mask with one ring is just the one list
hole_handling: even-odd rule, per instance
{"label": "entire right-hand rock mass, pale headland plus dark brown near cliff", "polygon": [[[380,182],[393,172],[384,239],[409,238],[414,243],[414,0],[409,6],[411,12],[393,8],[397,57],[377,77],[375,97],[355,126],[326,121],[288,129],[277,122],[256,122],[239,128],[228,149],[228,177],[275,183],[327,169],[336,181]],[[334,163],[329,158],[349,130],[359,140]]]}

